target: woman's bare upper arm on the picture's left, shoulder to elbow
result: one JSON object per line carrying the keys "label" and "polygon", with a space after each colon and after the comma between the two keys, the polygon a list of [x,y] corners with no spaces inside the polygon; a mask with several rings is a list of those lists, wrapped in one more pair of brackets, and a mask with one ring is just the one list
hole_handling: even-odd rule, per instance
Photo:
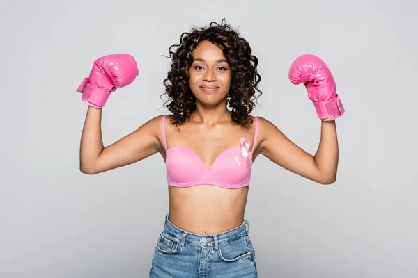
{"label": "woman's bare upper arm on the picture's left, shoulder to elbow", "polygon": [[129,165],[160,152],[161,120],[162,116],[154,117],[132,133],[104,147],[92,167],[92,174]]}

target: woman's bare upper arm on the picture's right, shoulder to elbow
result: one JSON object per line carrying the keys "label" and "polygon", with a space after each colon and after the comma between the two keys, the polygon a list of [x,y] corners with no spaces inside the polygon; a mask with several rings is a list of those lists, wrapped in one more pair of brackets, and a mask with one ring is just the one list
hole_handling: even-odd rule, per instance
{"label": "woman's bare upper arm on the picture's right, shoulder to elbow", "polygon": [[260,136],[258,152],[260,154],[286,170],[311,181],[324,183],[314,156],[295,145],[268,120],[263,117],[258,117],[258,119]]}

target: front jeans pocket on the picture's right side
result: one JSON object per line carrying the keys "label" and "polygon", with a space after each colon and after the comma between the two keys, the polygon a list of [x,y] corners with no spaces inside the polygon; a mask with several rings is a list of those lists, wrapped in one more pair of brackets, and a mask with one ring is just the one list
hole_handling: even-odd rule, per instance
{"label": "front jeans pocket on the picture's right side", "polygon": [[252,248],[247,244],[246,238],[238,238],[230,243],[219,245],[218,255],[222,261],[233,262],[243,259],[252,259]]}

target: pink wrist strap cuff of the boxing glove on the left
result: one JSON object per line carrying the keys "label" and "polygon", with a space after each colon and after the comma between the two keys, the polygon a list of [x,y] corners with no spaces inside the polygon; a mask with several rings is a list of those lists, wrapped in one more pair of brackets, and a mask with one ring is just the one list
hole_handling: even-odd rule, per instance
{"label": "pink wrist strap cuff of the boxing glove on the left", "polygon": [[111,93],[102,88],[98,88],[98,86],[89,82],[88,78],[84,79],[76,91],[82,92],[82,101],[96,109],[104,106]]}

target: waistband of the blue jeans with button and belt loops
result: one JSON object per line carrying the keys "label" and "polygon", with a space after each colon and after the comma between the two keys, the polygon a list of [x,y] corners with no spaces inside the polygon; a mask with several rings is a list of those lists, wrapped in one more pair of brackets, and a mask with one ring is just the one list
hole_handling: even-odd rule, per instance
{"label": "waistband of the blue jeans with button and belt loops", "polygon": [[169,234],[169,236],[176,238],[176,240],[179,240],[180,245],[182,246],[184,246],[185,243],[189,243],[201,247],[215,246],[215,249],[217,249],[218,245],[229,243],[238,238],[247,236],[249,226],[248,221],[244,220],[244,222],[242,222],[242,224],[239,227],[236,227],[229,231],[224,231],[220,234],[199,235],[179,229],[169,221],[169,215],[167,214],[165,216],[164,231],[167,234]]}

